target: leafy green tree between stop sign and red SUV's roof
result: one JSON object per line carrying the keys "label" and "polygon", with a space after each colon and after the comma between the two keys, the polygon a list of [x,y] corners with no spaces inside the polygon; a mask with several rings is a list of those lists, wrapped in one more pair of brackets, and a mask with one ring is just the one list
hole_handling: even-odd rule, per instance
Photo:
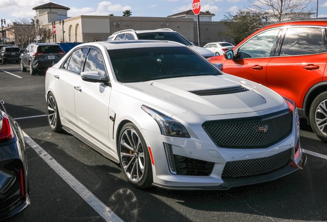
{"label": "leafy green tree between stop sign and red SUV's roof", "polygon": [[226,29],[220,32],[219,35],[231,36],[235,44],[239,44],[248,35],[264,25],[259,13],[251,13],[246,10],[237,11],[235,15],[228,12],[221,22]]}

